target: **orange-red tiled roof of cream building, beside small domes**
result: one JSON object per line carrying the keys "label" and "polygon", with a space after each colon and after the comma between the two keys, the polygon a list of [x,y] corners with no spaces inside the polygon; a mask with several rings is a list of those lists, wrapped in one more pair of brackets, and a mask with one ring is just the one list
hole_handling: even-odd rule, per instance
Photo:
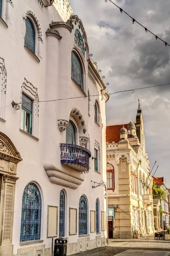
{"label": "orange-red tiled roof of cream building, beside small domes", "polygon": [[[110,125],[106,126],[106,141],[112,143],[118,143],[120,140],[120,129],[123,125]],[[124,124],[124,127],[127,129],[127,124]]]}

